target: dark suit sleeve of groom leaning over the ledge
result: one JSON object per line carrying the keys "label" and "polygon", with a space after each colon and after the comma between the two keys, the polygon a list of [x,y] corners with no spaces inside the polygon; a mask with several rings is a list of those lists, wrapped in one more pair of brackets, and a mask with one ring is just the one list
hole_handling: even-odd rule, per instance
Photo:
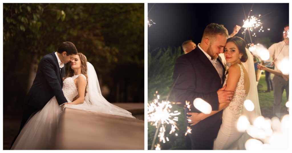
{"label": "dark suit sleeve of groom leaning over the ledge", "polygon": [[64,96],[64,93],[62,91],[62,87],[60,85],[60,82],[57,78],[57,74],[54,71],[53,61],[51,59],[43,59],[39,63],[40,69],[42,70],[42,73],[44,74],[49,86],[51,87],[59,105],[62,105],[67,102],[67,99]]}

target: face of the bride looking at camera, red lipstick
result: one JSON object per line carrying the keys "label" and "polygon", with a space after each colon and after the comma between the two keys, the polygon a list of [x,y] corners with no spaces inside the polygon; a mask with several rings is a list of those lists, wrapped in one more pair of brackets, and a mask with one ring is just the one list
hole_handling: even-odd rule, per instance
{"label": "face of the bride looking at camera, red lipstick", "polygon": [[224,47],[224,56],[226,62],[232,64],[240,61],[239,56],[242,56],[242,54],[239,52],[239,49],[234,42],[227,42]]}

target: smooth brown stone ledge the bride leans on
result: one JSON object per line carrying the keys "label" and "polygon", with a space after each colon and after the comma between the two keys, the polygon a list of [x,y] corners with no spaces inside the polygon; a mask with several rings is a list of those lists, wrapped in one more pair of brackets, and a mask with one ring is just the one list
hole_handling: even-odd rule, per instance
{"label": "smooth brown stone ledge the bride leans on", "polygon": [[143,150],[144,121],[66,108],[54,149]]}

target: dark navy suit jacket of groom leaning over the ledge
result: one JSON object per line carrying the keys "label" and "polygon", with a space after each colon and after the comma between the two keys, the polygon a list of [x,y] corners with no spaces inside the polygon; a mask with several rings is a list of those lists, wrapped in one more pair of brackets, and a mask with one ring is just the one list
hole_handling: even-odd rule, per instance
{"label": "dark navy suit jacket of groom leaning over the ledge", "polygon": [[36,77],[30,88],[25,103],[37,109],[42,109],[47,102],[56,97],[58,104],[67,102],[62,87],[65,66],[61,68],[55,53],[45,55],[38,66]]}

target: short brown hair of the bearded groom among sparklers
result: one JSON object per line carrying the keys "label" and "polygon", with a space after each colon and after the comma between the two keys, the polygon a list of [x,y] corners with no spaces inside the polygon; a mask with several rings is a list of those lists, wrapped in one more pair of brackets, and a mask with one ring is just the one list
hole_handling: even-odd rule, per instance
{"label": "short brown hair of the bearded groom among sparklers", "polygon": [[217,35],[223,35],[228,37],[228,31],[227,29],[224,27],[224,25],[219,25],[217,23],[210,23],[209,25],[207,25],[207,27],[204,30],[203,33],[203,39],[206,37],[214,38]]}

